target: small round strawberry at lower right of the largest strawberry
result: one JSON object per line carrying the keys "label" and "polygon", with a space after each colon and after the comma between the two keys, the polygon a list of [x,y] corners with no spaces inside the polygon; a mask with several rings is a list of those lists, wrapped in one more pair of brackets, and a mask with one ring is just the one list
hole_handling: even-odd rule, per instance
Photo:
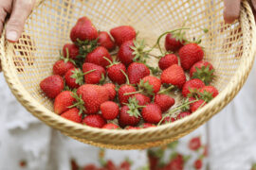
{"label": "small round strawberry at lower right of the largest strawberry", "polygon": [[114,120],[119,115],[119,105],[113,101],[106,101],[101,104],[101,114],[106,120]]}

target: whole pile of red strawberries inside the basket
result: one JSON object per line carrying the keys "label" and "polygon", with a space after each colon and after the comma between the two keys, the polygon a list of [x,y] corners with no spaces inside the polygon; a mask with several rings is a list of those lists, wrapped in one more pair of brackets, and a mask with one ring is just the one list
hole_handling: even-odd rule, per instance
{"label": "whole pile of red strawberries inside the basket", "polygon": [[[155,127],[190,115],[218,94],[209,85],[214,69],[202,60],[200,41],[186,40],[183,28],[162,34],[150,49],[137,40],[132,26],[115,27],[110,34],[115,41],[86,17],[71,29],[72,43],[64,44],[53,76],[40,83],[46,96],[54,99],[57,114],[90,127]],[[165,53],[159,45],[163,36]],[[157,45],[162,55],[155,56],[155,68],[147,59]],[[170,110],[175,103],[172,91],[180,91],[184,100]]]}

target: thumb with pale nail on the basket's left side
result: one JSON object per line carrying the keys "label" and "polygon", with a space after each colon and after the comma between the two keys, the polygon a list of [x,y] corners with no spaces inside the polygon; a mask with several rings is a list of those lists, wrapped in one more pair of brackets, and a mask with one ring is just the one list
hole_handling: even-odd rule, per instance
{"label": "thumb with pale nail on the basket's left side", "polygon": [[34,0],[15,0],[12,12],[7,24],[7,39],[9,42],[17,42],[20,38],[27,16],[34,6]]}

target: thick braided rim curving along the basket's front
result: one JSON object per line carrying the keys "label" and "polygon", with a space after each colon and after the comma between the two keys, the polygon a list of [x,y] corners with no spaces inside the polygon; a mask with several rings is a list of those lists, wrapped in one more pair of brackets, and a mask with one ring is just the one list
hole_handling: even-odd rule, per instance
{"label": "thick braided rim curving along the basket's front", "polygon": [[[6,53],[8,49],[10,49],[13,44],[10,44],[5,38],[5,34],[2,35],[1,45],[4,45],[6,48],[2,52],[2,54],[5,54],[4,56],[1,56],[2,59],[2,67],[4,76],[6,78],[6,81],[9,84],[9,88],[11,92],[15,95],[17,100],[20,101],[20,103],[28,110],[30,111],[34,116],[38,117],[40,120],[45,122],[50,127],[55,127],[62,132],[66,133],[68,136],[75,136],[77,138],[82,138],[88,141],[91,141],[92,143],[104,143],[104,144],[118,144],[122,145],[125,144],[125,140],[127,140],[127,136],[131,137],[139,137],[144,136],[145,134],[159,134],[158,138],[148,138],[148,140],[137,140],[137,142],[131,142],[131,144],[143,144],[146,142],[156,142],[160,140],[165,140],[168,138],[171,138],[174,135],[184,136],[186,133],[182,134],[182,132],[188,131],[190,128],[187,127],[187,130],[184,130],[185,127],[180,130],[177,129],[180,126],[184,125],[192,125],[190,127],[196,126],[199,127],[205,122],[207,122],[210,117],[215,115],[219,110],[222,110],[226,105],[229,104],[231,99],[235,96],[236,93],[240,91],[242,86],[244,85],[247,76],[251,70],[251,67],[253,65],[254,61],[254,55],[255,55],[255,49],[253,49],[253,46],[256,45],[256,27],[254,22],[254,17],[251,11],[251,8],[249,7],[247,1],[242,2],[242,13],[241,15],[247,16],[247,21],[241,20],[241,27],[243,33],[248,31],[250,35],[252,36],[250,39],[250,50],[245,50],[243,48],[243,55],[241,58],[245,59],[245,56],[247,56],[247,60],[245,62],[240,62],[240,65],[237,68],[237,71],[235,72],[234,76],[229,80],[229,84],[227,84],[227,87],[219,93],[208,105],[203,107],[200,110],[196,110],[192,113],[192,115],[185,117],[184,119],[175,121],[172,124],[166,124],[161,125],[159,127],[149,127],[149,128],[143,128],[139,130],[125,130],[125,129],[101,129],[101,128],[95,128],[95,127],[87,127],[83,126],[77,123],[74,123],[72,121],[66,120],[60,115],[54,113],[53,111],[47,110],[45,106],[41,105],[37,100],[35,100],[24,88],[22,83],[20,82],[18,76],[16,75],[16,69],[14,68],[14,64],[11,61],[11,56],[9,53]],[[246,27],[245,22],[249,23],[250,27]],[[248,41],[245,40],[245,36],[243,36],[243,42]],[[5,45],[7,44],[7,45]],[[241,69],[241,68],[247,68],[247,69]],[[17,84],[19,86],[17,86]],[[228,102],[222,103],[222,101],[228,97]],[[215,107],[215,108],[214,108]],[[198,120],[199,116],[205,114],[204,121],[201,121],[199,124],[194,125],[194,120]],[[56,126],[58,125],[58,126]],[[172,130],[176,129],[174,133],[172,133]],[[169,133],[165,133],[164,136],[160,135],[162,131],[169,131]],[[94,138],[86,138],[86,134],[90,134],[89,136],[94,135]],[[106,139],[103,139],[103,137],[107,136],[119,136],[122,138],[119,141],[107,141]]]}

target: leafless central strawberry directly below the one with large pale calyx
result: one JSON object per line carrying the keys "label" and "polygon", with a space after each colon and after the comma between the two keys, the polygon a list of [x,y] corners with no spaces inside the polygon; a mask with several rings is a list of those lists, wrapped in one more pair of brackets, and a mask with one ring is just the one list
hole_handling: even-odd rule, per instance
{"label": "leafless central strawberry directly below the one with large pale calyx", "polygon": [[140,79],[150,75],[150,70],[143,63],[133,62],[129,65],[127,73],[130,83],[137,84],[139,83]]}

